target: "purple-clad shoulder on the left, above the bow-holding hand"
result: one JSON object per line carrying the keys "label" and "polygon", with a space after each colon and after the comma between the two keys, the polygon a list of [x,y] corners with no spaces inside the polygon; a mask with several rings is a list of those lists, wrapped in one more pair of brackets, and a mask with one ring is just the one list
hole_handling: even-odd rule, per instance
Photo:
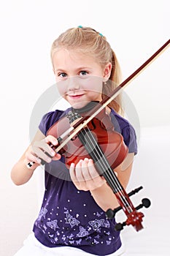
{"label": "purple-clad shoulder on the left, above the bow-holding hand", "polygon": [[50,127],[59,120],[62,116],[65,116],[68,113],[69,109],[67,110],[54,110],[50,111],[49,113],[46,113],[44,116],[42,116],[42,120],[39,124],[40,131],[46,135],[47,130],[50,129]]}

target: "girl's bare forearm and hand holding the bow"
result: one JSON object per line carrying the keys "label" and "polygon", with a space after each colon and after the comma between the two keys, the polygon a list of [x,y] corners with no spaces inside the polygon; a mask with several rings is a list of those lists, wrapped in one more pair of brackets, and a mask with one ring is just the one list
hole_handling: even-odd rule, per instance
{"label": "girl's bare forearm and hand holding the bow", "polygon": [[[48,143],[52,143],[56,146],[58,144],[58,140],[51,135],[45,137],[45,135],[38,130],[34,140],[30,146],[28,146],[23,156],[20,157],[18,162],[16,162],[14,167],[12,167],[11,178],[16,185],[22,185],[29,181],[36,167],[41,165],[41,159],[45,160],[45,162],[51,162],[52,160],[58,160],[61,158],[61,155],[56,154]],[[45,152],[50,154],[51,158],[47,157]],[[28,162],[35,163],[31,168],[28,168],[26,166]]]}

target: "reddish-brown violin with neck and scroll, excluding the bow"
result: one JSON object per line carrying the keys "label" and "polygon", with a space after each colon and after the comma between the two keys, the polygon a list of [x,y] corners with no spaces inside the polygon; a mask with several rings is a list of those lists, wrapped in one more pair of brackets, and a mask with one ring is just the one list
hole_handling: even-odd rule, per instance
{"label": "reddish-brown violin with neck and scroll, excluding the bow", "polygon": [[[98,104],[97,102],[90,102],[85,108],[77,110],[72,108],[66,117],[61,118],[50,127],[47,131],[47,135],[60,138],[60,135],[64,132],[63,128],[69,128],[72,122],[85,116],[87,109],[93,109]],[[53,147],[53,149],[56,151],[56,147]],[[65,159],[66,167],[68,168],[72,162],[77,164],[80,159],[85,159],[85,157],[90,156],[90,158],[93,159],[99,175],[104,176],[107,184],[109,184],[109,187],[111,187],[117,197],[118,203],[128,216],[125,224],[123,223],[122,226],[117,224],[115,229],[120,230],[120,227],[123,229],[124,225],[130,224],[133,225],[137,231],[142,229],[141,222],[144,214],[136,211],[114,172],[115,167],[120,165],[127,156],[128,147],[125,146],[123,136],[115,132],[112,121],[105,110],[101,110],[101,112],[88,123],[88,126],[82,128],[72,140],[69,140],[69,143],[63,146],[61,151],[58,151],[58,153],[62,154]],[[107,211],[107,217],[109,218],[112,216],[110,212],[111,209]]]}

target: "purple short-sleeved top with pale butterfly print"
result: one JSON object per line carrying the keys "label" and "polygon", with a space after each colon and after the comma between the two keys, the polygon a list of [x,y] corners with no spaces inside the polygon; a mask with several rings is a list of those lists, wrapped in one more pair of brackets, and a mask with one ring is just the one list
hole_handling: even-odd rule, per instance
{"label": "purple short-sleeved top with pale butterfly print", "polygon": [[[69,110],[43,116],[39,129],[47,130]],[[130,153],[137,152],[134,128],[124,118],[110,113],[115,130],[123,135]],[[45,246],[74,246],[93,255],[109,255],[121,246],[115,219],[107,219],[90,192],[78,190],[69,178],[64,158],[45,165],[45,195],[34,223],[36,238]]]}

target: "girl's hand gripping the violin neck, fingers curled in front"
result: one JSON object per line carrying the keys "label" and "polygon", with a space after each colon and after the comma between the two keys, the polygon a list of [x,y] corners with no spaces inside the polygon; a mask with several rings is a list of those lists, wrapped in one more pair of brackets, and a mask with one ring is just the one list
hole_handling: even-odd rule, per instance
{"label": "girl's hand gripping the violin neck, fingers curled in front", "polygon": [[92,191],[106,183],[106,180],[99,176],[92,159],[85,158],[77,165],[72,163],[69,171],[74,185],[79,190]]}

